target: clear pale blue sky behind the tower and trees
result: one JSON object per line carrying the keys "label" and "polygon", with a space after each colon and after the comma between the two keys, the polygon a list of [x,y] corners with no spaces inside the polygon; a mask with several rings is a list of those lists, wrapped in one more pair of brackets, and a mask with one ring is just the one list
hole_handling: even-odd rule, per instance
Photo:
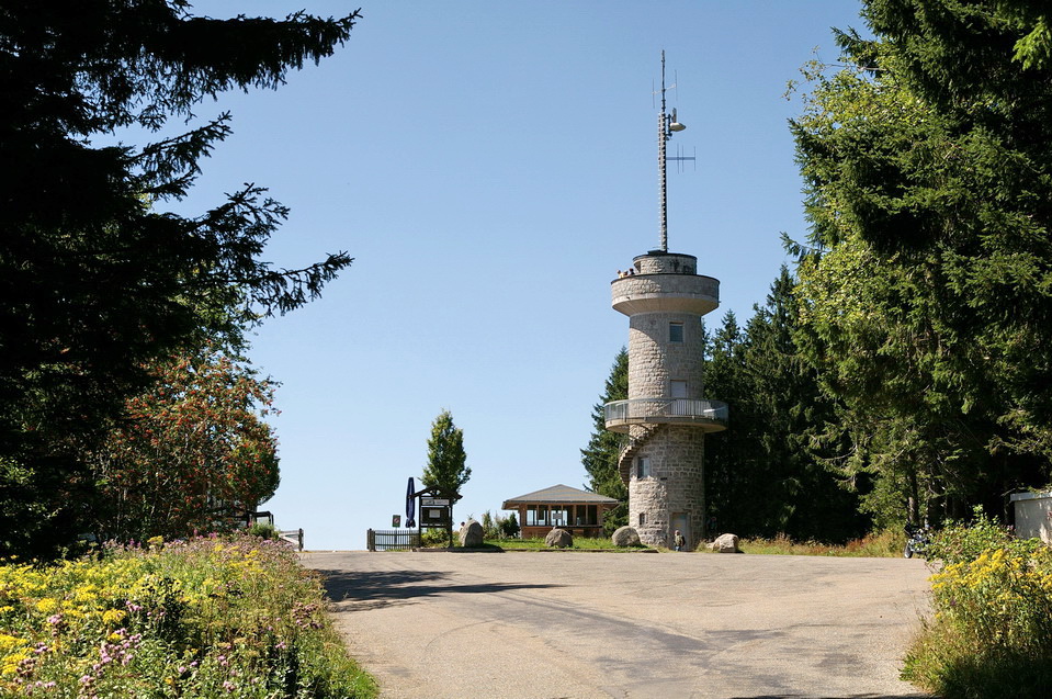
{"label": "clear pale blue sky behind the tower and trees", "polygon": [[[341,14],[359,3],[196,2],[199,14]],[[181,211],[242,182],[292,210],[267,258],[297,268],[347,250],[323,298],[269,320],[251,358],[282,382],[282,483],[263,507],[310,549],[363,549],[404,515],[406,480],[449,408],[473,475],[460,521],[563,483],[627,319],[610,281],[657,247],[657,109],[670,143],[669,249],[721,280],[719,323],[761,303],[779,239],[806,233],[787,81],[862,29],[850,0],[367,2],[349,42],[234,114]],[[732,415],[734,407],[732,406]]]}

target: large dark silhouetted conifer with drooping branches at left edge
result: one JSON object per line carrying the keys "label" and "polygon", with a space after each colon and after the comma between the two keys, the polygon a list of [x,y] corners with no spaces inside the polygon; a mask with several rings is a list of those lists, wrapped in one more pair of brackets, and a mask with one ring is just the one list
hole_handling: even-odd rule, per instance
{"label": "large dark silhouetted conifer with drooping branches at left edge", "polygon": [[[83,456],[149,367],[320,293],[342,252],[260,259],[286,210],[258,185],[167,211],[230,115],[193,110],[276,88],[329,56],[357,13],[214,20],[185,0],[11,0],[0,9],[0,555],[50,556],[82,526]],[[151,136],[169,121],[193,125]],[[95,145],[117,129],[152,143]],[[137,131],[136,131],[137,129]],[[135,137],[135,136],[132,136]],[[82,529],[81,529],[82,530]]]}

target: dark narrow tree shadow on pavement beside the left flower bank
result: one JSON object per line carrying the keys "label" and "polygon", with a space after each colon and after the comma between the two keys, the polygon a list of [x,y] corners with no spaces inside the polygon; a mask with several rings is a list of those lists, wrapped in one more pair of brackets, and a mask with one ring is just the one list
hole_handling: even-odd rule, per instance
{"label": "dark narrow tree shadow on pavement beside the left flower bank", "polygon": [[562,585],[483,583],[454,585],[444,573],[427,571],[326,571],[325,590],[333,602],[359,602],[344,611],[362,611],[392,605],[405,605],[435,595],[505,593],[517,589],[545,589]]}

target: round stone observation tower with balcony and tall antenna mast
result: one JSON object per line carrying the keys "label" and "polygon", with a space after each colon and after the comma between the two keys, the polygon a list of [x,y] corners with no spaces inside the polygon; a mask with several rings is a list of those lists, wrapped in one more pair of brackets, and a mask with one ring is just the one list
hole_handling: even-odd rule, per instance
{"label": "round stone observation tower with balcony and tall antenna mast", "polygon": [[627,435],[619,469],[629,486],[629,525],[643,543],[671,545],[680,530],[693,550],[705,535],[705,433],[726,428],[727,406],[704,399],[701,317],[720,305],[720,281],[698,258],[668,251],[665,144],[685,126],[658,122],[661,244],[611,282],[614,311],[629,316],[629,399],[606,405],[607,429]]}

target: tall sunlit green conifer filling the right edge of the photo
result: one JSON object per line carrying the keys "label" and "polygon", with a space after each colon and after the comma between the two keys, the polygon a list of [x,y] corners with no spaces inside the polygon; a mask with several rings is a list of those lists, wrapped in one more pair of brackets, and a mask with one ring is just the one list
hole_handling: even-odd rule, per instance
{"label": "tall sunlit green conifer filling the right edge of the photo", "polygon": [[1045,3],[868,0],[794,121],[798,343],[883,523],[1004,512],[1052,477]]}

